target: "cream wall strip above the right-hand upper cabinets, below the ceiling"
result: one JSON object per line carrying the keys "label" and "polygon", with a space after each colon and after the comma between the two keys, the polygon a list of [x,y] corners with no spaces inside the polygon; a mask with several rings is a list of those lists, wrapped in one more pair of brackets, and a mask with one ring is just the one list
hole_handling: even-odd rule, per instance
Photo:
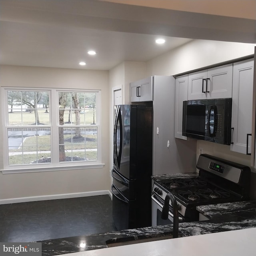
{"label": "cream wall strip above the right-hand upper cabinets, below the ceiling", "polygon": [[175,75],[254,54],[256,44],[192,40],[147,62],[146,75]]}

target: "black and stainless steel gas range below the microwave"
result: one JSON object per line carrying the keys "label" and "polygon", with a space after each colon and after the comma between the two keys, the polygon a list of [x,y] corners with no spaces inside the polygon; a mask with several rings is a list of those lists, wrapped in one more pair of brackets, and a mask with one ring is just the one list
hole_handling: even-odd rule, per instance
{"label": "black and stainless steel gas range below the microwave", "polygon": [[198,176],[157,178],[152,189],[152,226],[173,223],[173,208],[169,203],[167,220],[161,218],[165,197],[176,199],[179,222],[199,220],[198,205],[248,200],[250,197],[250,168],[241,164],[201,154],[196,167]]}

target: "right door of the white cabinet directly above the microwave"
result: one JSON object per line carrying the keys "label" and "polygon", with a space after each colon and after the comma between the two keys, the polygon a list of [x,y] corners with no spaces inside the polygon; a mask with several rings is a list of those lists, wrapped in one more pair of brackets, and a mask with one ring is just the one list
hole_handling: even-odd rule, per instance
{"label": "right door of the white cabinet directly above the microwave", "polygon": [[232,98],[233,64],[207,70],[206,95],[208,99]]}

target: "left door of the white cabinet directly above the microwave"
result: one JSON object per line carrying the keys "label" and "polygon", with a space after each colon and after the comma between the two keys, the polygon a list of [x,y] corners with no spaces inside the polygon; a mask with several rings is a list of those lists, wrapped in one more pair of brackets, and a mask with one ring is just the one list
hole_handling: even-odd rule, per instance
{"label": "left door of the white cabinet directly above the microwave", "polygon": [[188,100],[202,100],[206,94],[207,70],[188,75]]}

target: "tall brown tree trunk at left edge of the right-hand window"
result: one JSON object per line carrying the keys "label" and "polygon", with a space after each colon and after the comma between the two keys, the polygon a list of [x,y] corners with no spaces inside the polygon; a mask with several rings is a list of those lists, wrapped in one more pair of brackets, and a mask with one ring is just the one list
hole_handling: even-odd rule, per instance
{"label": "tall brown tree trunk at left edge of the right-hand window", "polygon": [[[64,112],[67,104],[67,92],[59,92],[59,122],[64,125]],[[59,127],[59,160],[64,162],[66,160],[65,146],[64,146],[64,130]]]}

